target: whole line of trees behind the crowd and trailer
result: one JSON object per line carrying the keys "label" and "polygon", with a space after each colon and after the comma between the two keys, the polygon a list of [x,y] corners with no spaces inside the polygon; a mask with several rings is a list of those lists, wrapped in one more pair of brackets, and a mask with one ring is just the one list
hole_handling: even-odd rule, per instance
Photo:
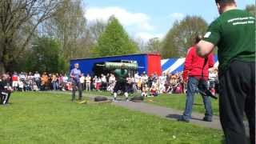
{"label": "whole line of trees behind the crowd and trailer", "polygon": [[[246,6],[255,16],[255,5]],[[186,16],[162,39],[131,38],[117,18],[87,22],[82,0],[0,1],[0,73],[5,71],[66,72],[72,58],[160,53],[179,58],[204,34],[208,24]]]}

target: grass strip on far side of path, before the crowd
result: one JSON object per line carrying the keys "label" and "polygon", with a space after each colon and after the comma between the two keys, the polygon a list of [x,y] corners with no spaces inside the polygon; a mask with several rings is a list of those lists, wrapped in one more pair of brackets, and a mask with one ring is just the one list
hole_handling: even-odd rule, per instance
{"label": "grass strip on far side of path, before the crowd", "polygon": [[[109,92],[85,92],[84,94],[98,94],[111,96]],[[139,94],[138,94],[139,95]],[[153,105],[166,106],[176,110],[184,110],[186,106],[186,94],[160,94],[158,97],[146,98],[145,102],[148,102]],[[218,112],[218,100],[211,98],[212,109],[214,115],[219,115]],[[194,106],[193,111],[205,114],[205,108],[202,102],[202,96],[196,94],[194,96]]]}

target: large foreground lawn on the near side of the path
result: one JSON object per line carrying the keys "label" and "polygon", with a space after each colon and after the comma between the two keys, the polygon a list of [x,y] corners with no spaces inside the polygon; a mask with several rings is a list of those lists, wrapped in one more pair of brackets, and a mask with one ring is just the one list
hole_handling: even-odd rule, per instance
{"label": "large foreground lawn on the near side of the path", "polygon": [[222,143],[207,129],[113,106],[78,104],[69,94],[14,93],[0,106],[0,143]]}

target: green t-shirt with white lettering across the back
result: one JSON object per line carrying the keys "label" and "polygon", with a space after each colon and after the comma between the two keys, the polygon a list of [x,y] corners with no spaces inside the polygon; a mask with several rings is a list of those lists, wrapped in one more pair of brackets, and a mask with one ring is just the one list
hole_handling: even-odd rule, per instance
{"label": "green t-shirt with white lettering across the back", "polygon": [[209,26],[203,38],[218,46],[219,71],[230,62],[255,62],[255,18],[244,10],[228,10]]}

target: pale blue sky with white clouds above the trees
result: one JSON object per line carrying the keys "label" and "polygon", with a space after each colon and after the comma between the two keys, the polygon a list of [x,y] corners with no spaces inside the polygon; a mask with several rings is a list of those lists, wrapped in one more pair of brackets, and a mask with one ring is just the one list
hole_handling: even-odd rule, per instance
{"label": "pale blue sky with white clouds above the trees", "polygon": [[[238,8],[254,0],[237,0]],[[132,38],[162,38],[175,20],[186,15],[198,15],[210,23],[218,17],[214,0],[84,0],[85,16],[89,22],[106,21],[111,15],[125,27]]]}

